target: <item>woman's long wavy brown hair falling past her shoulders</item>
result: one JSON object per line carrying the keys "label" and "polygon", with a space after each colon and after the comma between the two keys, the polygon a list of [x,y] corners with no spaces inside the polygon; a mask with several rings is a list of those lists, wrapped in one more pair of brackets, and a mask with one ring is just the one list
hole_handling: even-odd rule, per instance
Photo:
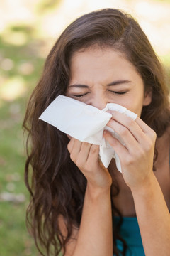
{"label": "woman's long wavy brown hair falling past her shoulders", "polygon": [[[45,247],[45,255],[59,255],[72,235],[72,227],[79,228],[86,178],[69,158],[66,134],[38,117],[57,95],[65,95],[72,54],[96,45],[119,50],[135,65],[144,81],[145,92],[152,92],[152,102],[143,107],[141,118],[158,137],[170,122],[162,65],[147,36],[130,15],[117,9],[102,9],[81,16],[65,29],[47,56],[23,122],[28,131],[25,180],[31,195],[27,220],[38,250]],[[118,193],[118,188],[113,191]],[[113,215],[115,212],[118,213],[118,209],[113,205]],[[60,230],[60,215],[67,225],[67,237],[63,237]],[[122,238],[116,227],[113,235],[114,252],[118,256],[115,240]],[[123,255],[125,248],[124,242]]]}

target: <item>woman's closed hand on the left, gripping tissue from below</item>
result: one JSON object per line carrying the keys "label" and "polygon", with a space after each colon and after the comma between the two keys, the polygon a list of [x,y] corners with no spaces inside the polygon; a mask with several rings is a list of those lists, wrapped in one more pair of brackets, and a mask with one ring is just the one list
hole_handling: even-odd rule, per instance
{"label": "woman's closed hand on the left, gripping tissue from below", "polygon": [[79,167],[91,188],[110,188],[111,175],[98,159],[99,146],[70,139],[67,146],[70,158]]}

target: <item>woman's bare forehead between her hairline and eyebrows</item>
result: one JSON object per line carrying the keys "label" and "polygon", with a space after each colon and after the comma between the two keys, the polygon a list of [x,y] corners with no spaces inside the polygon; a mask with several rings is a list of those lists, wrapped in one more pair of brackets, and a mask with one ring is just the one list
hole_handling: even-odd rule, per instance
{"label": "woman's bare forehead between her hairline and eyebrows", "polygon": [[[72,55],[70,61],[71,80],[83,78],[123,78],[139,75],[124,53],[111,48],[87,48]],[[126,78],[127,79],[127,78]]]}

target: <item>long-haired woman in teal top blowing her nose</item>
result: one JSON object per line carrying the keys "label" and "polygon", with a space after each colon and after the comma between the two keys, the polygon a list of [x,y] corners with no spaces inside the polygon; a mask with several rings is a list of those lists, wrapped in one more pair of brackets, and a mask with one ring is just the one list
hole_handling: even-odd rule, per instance
{"label": "long-haired woman in teal top blowing her nose", "polygon": [[[132,121],[111,112],[107,125],[125,146],[103,134],[123,174],[114,159],[104,168],[98,146],[68,138],[38,119],[60,94],[100,110],[118,103],[138,115]],[[44,255],[169,255],[169,122],[162,66],[131,16],[103,9],[65,29],[47,57],[23,123],[31,144],[28,222]]]}

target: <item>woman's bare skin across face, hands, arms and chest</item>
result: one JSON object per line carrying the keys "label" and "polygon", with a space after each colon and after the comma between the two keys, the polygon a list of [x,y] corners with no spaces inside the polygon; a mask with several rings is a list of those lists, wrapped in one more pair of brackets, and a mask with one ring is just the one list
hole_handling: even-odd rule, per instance
{"label": "woman's bare skin across face, hands, arms and chest", "polygon": [[[152,93],[145,92],[142,78],[125,56],[110,48],[88,48],[74,53],[67,96],[103,109],[113,102],[127,107],[138,117],[111,112],[108,126],[125,142],[120,144],[109,132],[103,136],[113,146],[123,174],[111,161],[120,193],[113,198],[123,216],[137,215],[145,255],[168,256],[170,252],[170,172],[169,131],[158,139],[157,171],[152,171],[155,132],[140,119],[142,107]],[[98,146],[71,138],[68,150],[72,161],[87,179],[79,230],[74,228],[65,256],[113,256],[111,215],[111,174],[98,159]],[[62,233],[65,223],[60,220]]]}

